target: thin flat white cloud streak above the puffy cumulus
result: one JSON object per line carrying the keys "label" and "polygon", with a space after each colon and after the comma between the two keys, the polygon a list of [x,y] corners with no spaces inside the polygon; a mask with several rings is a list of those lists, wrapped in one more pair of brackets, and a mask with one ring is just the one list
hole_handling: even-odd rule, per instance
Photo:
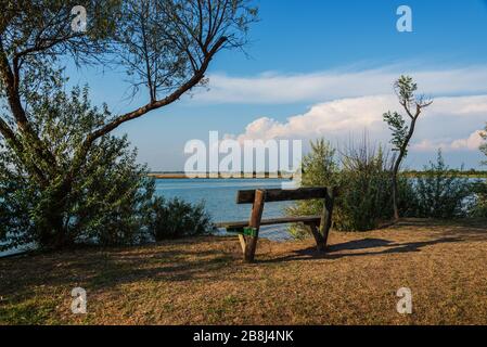
{"label": "thin flat white cloud streak above the puffy cumulus", "polygon": [[411,75],[421,92],[433,95],[487,93],[487,66],[420,69],[388,66],[359,72],[329,70],[312,74],[266,73],[255,77],[209,76],[209,90],[193,102],[286,104],[386,94],[401,74]]}

